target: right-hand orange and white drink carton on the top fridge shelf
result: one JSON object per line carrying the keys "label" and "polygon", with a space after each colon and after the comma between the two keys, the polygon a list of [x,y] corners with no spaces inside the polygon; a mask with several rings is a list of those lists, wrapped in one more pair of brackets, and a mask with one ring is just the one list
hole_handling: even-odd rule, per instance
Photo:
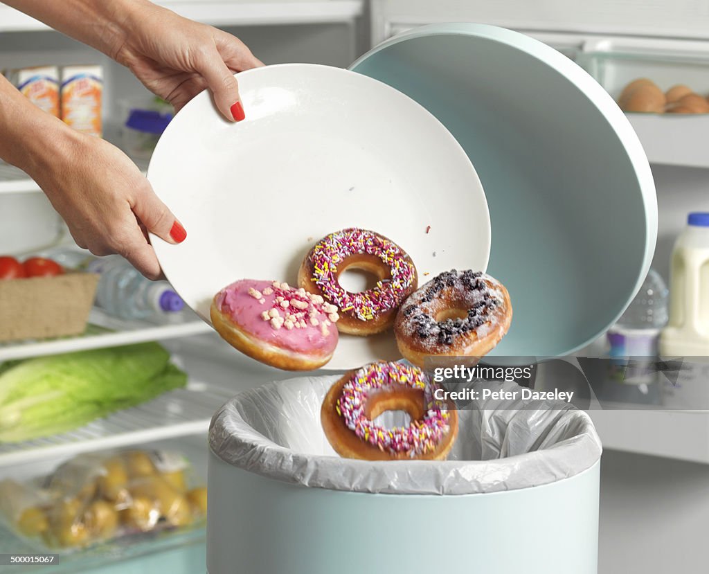
{"label": "right-hand orange and white drink carton on the top fridge shelf", "polygon": [[101,99],[104,72],[101,66],[62,68],[62,120],[75,130],[101,137]]}

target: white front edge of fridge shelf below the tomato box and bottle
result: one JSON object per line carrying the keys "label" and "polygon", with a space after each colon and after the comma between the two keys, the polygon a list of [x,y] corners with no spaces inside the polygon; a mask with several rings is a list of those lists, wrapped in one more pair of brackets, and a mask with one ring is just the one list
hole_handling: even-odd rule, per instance
{"label": "white front edge of fridge shelf below the tomato box and bottle", "polygon": [[86,349],[121,347],[133,343],[175,339],[211,332],[212,327],[194,313],[181,315],[183,320],[180,322],[157,325],[149,322],[116,320],[94,308],[89,315],[89,326],[84,334],[41,341],[0,343],[0,362]]}

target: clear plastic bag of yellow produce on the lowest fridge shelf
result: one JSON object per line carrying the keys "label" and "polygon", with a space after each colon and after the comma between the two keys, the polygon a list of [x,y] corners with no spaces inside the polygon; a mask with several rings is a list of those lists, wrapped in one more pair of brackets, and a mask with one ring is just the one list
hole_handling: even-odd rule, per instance
{"label": "clear plastic bag of yellow produce on the lowest fridge shelf", "polygon": [[206,488],[174,451],[84,453],[52,473],[0,481],[0,519],[59,553],[124,536],[187,527],[206,513]]}

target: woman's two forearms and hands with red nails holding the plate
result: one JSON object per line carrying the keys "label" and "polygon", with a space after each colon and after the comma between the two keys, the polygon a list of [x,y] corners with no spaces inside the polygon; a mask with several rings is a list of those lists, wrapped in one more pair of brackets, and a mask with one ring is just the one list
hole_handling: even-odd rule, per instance
{"label": "woman's two forearms and hands with red nails holding the plate", "polygon": [[[113,57],[176,110],[209,88],[225,118],[245,118],[233,74],[263,64],[233,35],[147,0],[4,2]],[[121,254],[147,277],[160,276],[147,231],[186,237],[123,152],[34,108],[2,77],[0,157],[35,179],[79,246]]]}

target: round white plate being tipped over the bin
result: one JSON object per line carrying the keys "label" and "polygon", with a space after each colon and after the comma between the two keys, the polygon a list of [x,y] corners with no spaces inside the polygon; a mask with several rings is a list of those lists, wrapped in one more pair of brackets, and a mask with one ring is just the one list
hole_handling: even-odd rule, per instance
{"label": "round white plate being tipped over the bin", "polygon": [[[199,94],[165,130],[148,169],[187,230],[182,244],[154,236],[152,244],[204,320],[214,294],[240,278],[294,284],[313,243],[344,227],[397,242],[420,283],[447,269],[486,269],[490,218],[480,180],[418,103],[361,74],[313,64],[237,78],[246,119],[226,122]],[[399,356],[391,332],[342,335],[328,368]]]}

